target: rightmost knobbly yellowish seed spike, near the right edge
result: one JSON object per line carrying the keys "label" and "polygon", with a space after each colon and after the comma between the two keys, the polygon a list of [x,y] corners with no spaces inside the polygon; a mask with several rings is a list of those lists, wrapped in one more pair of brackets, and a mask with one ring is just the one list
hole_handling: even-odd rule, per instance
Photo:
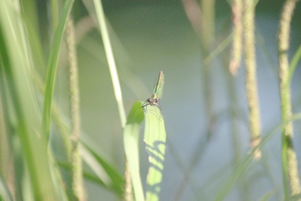
{"label": "rightmost knobbly yellowish seed spike, near the right edge", "polygon": [[[296,0],[287,0],[283,6],[278,32],[278,59],[280,78],[280,99],[282,122],[286,122],[292,116],[292,105],[290,98],[290,76],[287,50],[289,48],[290,23],[296,6]],[[290,196],[300,194],[300,182],[296,153],[293,148],[294,129],[293,123],[287,122],[282,132],[282,166],[285,187],[285,200]],[[287,184],[288,183],[288,184]],[[289,186],[289,189],[288,189]],[[289,192],[290,190],[290,192]]]}

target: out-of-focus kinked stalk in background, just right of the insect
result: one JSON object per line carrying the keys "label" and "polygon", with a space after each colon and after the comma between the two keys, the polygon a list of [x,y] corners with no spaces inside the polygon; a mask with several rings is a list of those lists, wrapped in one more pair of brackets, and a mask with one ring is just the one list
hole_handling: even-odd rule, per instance
{"label": "out-of-focus kinked stalk in background, just right of the insect", "polygon": [[[214,13],[214,0],[201,0],[198,4],[194,0],[182,0],[187,17],[189,18],[194,31],[200,36],[201,48],[202,48],[202,86],[205,99],[205,116],[208,118],[207,122],[207,135],[205,140],[202,138],[198,143],[197,148],[192,154],[192,160],[188,165],[188,168],[182,168],[184,174],[182,181],[177,188],[177,193],[173,196],[173,200],[180,200],[185,187],[190,183],[190,175],[194,167],[201,161],[203,151],[206,149],[205,143],[209,142],[212,136],[213,125],[215,117],[213,115],[213,93],[211,83],[211,62],[219,54],[219,50],[223,46],[211,50],[213,48],[213,39],[215,36],[214,25],[215,25],[215,13]],[[196,9],[195,6],[199,6]]]}

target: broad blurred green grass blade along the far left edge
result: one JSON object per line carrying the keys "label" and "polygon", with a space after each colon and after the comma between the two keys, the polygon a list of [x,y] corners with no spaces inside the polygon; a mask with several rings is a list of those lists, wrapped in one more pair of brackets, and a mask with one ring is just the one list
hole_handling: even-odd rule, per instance
{"label": "broad blurred green grass blade along the far left edge", "polygon": [[16,139],[21,144],[14,148],[21,149],[24,163],[19,163],[19,168],[26,170],[23,175],[28,175],[19,178],[18,183],[27,185],[26,189],[22,188],[22,192],[16,194],[34,195],[36,200],[56,200],[47,161],[47,139],[42,134],[37,95],[31,79],[33,65],[28,36],[20,5],[15,3],[0,1],[0,49],[3,62],[1,71],[7,80],[9,101],[16,115]]}

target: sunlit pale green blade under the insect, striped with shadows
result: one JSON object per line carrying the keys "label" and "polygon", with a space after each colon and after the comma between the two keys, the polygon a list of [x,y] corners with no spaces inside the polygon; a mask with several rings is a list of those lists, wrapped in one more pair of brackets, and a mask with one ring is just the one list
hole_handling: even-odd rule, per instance
{"label": "sunlit pale green blade under the insect, striped with shadows", "polygon": [[145,113],[144,142],[149,153],[150,168],[146,181],[146,200],[159,200],[164,169],[166,132],[158,107],[148,107]]}

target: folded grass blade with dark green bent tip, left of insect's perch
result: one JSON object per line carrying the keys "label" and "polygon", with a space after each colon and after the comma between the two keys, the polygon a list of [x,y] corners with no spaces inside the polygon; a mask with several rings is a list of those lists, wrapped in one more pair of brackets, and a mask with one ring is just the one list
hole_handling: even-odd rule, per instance
{"label": "folded grass blade with dark green bent tip, left of insect's perch", "polygon": [[130,165],[130,176],[134,189],[135,200],[144,200],[143,188],[140,178],[139,164],[139,135],[141,123],[144,119],[140,101],[136,101],[128,115],[127,123],[123,130],[123,142],[126,158]]}

